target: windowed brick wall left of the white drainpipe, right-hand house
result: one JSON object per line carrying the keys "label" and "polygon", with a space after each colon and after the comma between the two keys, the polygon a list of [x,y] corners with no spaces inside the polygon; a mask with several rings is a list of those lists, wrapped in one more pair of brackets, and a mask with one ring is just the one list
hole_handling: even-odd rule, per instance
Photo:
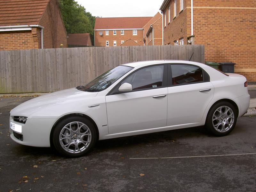
{"label": "windowed brick wall left of the white drainpipe, right-hand house", "polygon": [[[175,40],[184,38],[184,44],[187,44],[187,0],[183,0],[184,9],[180,10],[180,0],[176,0],[176,17],[174,17],[174,0],[165,7],[166,12],[166,26],[164,16],[164,44],[174,44]],[[170,23],[169,23],[169,11],[170,6]]]}

